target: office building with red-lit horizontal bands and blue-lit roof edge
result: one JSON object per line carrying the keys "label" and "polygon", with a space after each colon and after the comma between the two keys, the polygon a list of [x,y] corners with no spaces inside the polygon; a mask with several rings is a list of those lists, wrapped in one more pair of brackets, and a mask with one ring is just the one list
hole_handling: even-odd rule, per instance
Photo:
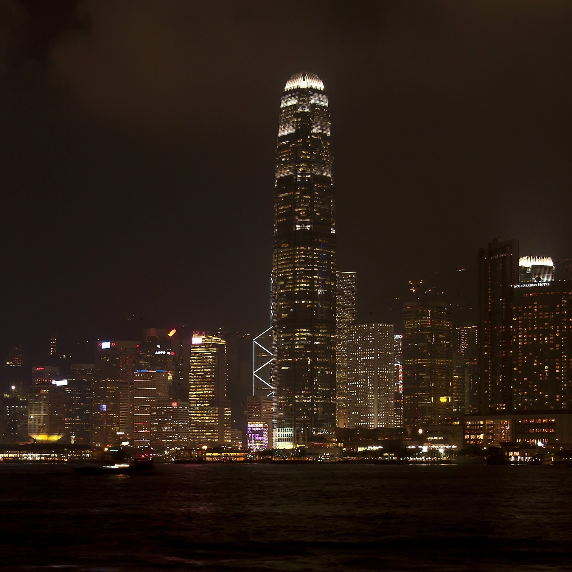
{"label": "office building with red-lit horizontal bands and blue-lit roof edge", "polygon": [[133,380],[133,445],[151,444],[151,407],[169,399],[172,374],[164,370],[137,370]]}

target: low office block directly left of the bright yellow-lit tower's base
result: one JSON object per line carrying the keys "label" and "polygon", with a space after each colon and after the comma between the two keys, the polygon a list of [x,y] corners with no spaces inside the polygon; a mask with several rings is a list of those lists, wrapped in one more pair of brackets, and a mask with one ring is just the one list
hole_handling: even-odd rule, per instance
{"label": "low office block directly left of the bright yellow-lit tower's base", "polygon": [[172,454],[189,445],[189,407],[180,401],[150,404],[150,440],[154,452]]}

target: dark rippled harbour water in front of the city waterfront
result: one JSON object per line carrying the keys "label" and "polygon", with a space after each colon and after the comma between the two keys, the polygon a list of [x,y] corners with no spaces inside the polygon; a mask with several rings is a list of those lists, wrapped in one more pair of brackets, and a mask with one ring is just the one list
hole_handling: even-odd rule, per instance
{"label": "dark rippled harbour water in front of the city waterfront", "polygon": [[572,469],[0,466],[7,570],[572,570]]}

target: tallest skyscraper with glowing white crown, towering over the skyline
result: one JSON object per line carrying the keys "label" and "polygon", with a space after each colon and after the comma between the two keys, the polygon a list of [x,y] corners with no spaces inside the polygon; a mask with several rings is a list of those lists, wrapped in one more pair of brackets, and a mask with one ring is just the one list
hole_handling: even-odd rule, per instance
{"label": "tallest skyscraper with glowing white crown, towering over the skyline", "polygon": [[280,100],[272,245],[274,446],[292,448],[336,423],[335,200],[328,97],[298,73]]}

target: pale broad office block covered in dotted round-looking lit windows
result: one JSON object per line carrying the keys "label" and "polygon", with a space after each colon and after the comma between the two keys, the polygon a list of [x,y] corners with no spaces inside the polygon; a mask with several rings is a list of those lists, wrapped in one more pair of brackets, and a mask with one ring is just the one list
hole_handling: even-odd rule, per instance
{"label": "pale broad office block covered in dotted round-looking lit windows", "polygon": [[395,427],[395,338],[392,324],[347,329],[348,427]]}

